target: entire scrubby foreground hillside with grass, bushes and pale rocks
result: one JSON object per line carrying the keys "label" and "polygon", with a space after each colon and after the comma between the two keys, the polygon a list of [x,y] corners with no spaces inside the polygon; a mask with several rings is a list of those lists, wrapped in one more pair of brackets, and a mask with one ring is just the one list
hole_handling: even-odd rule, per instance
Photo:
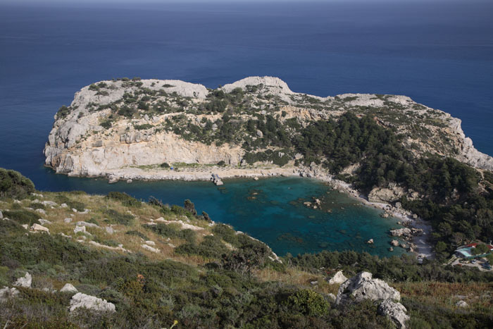
{"label": "entire scrubby foreground hillside with grass, bushes and pale rocks", "polygon": [[2,328],[491,328],[492,281],[406,255],[278,259],[189,200],[37,192],[0,169]]}

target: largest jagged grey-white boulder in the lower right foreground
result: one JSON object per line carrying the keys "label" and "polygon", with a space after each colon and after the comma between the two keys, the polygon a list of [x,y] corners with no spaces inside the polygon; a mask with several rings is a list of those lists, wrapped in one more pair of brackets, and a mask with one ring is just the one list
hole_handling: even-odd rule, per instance
{"label": "largest jagged grey-white boulder in the lower right foreground", "polygon": [[337,304],[361,302],[363,299],[394,299],[399,301],[401,294],[380,279],[372,279],[372,274],[361,272],[342,283],[337,292]]}

